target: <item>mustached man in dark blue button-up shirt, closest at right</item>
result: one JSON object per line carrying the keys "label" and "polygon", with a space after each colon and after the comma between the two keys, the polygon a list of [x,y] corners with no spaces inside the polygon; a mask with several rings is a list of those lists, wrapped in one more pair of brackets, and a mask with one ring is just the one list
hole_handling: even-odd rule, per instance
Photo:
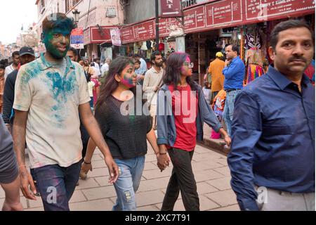
{"label": "mustached man in dark blue button-up shirt, closest at right", "polygon": [[236,98],[228,165],[241,210],[315,210],[315,88],[303,75],[313,39],[301,21],[279,23],[274,66]]}

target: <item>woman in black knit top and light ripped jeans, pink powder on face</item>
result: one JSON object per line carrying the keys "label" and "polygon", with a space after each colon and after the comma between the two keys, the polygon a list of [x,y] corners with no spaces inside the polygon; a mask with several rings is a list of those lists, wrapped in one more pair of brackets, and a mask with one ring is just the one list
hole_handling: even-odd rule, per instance
{"label": "woman in black knit top and light ripped jeans, pink powder on face", "polygon": [[[136,95],[136,78],[133,61],[124,56],[115,58],[96,104],[96,120],[119,166],[119,178],[114,183],[117,202],[112,210],[115,211],[136,210],[135,193],[143,174],[147,141],[157,155],[159,169],[169,164],[166,155],[159,155],[150,114],[143,107],[145,103],[142,103],[141,91]],[[91,158],[95,148],[90,140],[82,165],[84,173],[92,169]]]}

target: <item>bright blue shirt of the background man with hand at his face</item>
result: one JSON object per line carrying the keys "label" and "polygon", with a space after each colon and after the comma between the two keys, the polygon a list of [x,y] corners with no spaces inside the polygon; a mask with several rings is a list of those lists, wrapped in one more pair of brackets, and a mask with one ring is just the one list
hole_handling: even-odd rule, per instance
{"label": "bright blue shirt of the background man with hand at his face", "polygon": [[224,90],[242,89],[244,73],[244,63],[242,60],[238,56],[232,59],[230,65],[223,69],[223,75],[225,76]]}

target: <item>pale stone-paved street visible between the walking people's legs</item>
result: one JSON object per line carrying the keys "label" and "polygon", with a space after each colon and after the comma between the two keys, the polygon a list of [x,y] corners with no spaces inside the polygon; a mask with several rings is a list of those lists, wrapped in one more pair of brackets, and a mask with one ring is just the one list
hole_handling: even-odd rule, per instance
{"label": "pale stone-paved street visible between the walking people's legs", "polygon": [[[99,150],[93,155],[93,172],[85,181],[79,180],[70,200],[70,210],[111,210],[116,199],[114,187],[107,183],[108,171]],[[197,146],[193,156],[193,169],[197,181],[201,210],[239,210],[235,193],[230,188],[230,172],[226,157],[208,148]],[[160,172],[156,158],[149,148],[140,187],[136,193],[138,210],[159,210],[162,206],[172,165]],[[44,210],[41,200],[21,198],[25,210]],[[4,191],[0,189],[0,205],[4,202]],[[179,198],[174,210],[183,211]]]}

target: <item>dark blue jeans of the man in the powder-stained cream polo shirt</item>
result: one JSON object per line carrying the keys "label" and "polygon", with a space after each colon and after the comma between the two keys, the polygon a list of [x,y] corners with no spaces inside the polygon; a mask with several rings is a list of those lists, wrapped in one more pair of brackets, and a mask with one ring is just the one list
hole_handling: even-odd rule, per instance
{"label": "dark blue jeans of the man in the powder-stained cream polo shirt", "polygon": [[69,200],[79,179],[81,160],[70,167],[47,165],[31,169],[45,211],[70,211]]}

